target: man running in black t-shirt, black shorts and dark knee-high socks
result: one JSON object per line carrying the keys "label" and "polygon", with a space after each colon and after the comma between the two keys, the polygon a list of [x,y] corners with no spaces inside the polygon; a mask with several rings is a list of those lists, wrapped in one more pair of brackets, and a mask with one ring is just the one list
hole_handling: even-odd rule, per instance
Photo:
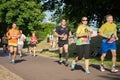
{"label": "man running in black t-shirt, black shorts and dark knee-high socks", "polygon": [[62,54],[63,54],[63,48],[65,50],[66,54],[66,61],[65,66],[68,66],[68,36],[72,37],[72,33],[70,31],[70,28],[66,25],[66,20],[62,19],[61,25],[56,28],[55,36],[58,37],[58,46],[59,46],[59,63],[62,63]]}

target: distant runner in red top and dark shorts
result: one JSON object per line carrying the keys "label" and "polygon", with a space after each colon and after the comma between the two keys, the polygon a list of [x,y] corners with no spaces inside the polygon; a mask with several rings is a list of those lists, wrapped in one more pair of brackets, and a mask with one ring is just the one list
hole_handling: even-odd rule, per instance
{"label": "distant runner in red top and dark shorts", "polygon": [[33,56],[36,56],[36,44],[38,43],[37,37],[35,36],[35,33],[32,33],[32,37],[30,37],[30,46],[31,51],[33,52]]}

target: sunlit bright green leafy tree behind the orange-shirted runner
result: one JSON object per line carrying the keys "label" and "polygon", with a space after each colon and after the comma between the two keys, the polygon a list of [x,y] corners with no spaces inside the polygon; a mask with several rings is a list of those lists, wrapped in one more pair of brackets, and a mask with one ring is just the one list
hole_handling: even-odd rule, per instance
{"label": "sunlit bright green leafy tree behind the orange-shirted runner", "polygon": [[[7,31],[12,22],[19,29],[30,33],[38,30],[45,18],[42,4],[38,0],[0,0],[0,27]],[[3,32],[2,32],[3,33]]]}

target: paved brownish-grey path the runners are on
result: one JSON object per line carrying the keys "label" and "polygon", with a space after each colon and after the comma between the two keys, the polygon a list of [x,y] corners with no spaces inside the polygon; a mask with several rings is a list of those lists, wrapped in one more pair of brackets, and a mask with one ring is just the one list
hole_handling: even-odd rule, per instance
{"label": "paved brownish-grey path the runners are on", "polygon": [[99,66],[91,64],[91,74],[84,73],[81,64],[75,71],[70,67],[59,65],[56,59],[26,54],[23,58],[17,57],[17,63],[12,65],[8,62],[7,54],[0,52],[0,65],[22,77],[24,80],[120,80],[120,72],[100,72]]}

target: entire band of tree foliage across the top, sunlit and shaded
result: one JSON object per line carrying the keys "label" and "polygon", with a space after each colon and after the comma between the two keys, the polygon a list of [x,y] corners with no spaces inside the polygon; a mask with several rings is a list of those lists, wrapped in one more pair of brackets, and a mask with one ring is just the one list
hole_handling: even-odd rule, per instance
{"label": "entire band of tree foliage across the top, sunlit and shaded", "polygon": [[47,10],[54,12],[51,20],[56,23],[62,18],[67,19],[72,31],[75,31],[82,16],[96,19],[99,25],[106,14],[112,14],[116,21],[120,21],[119,7],[119,0],[1,0],[0,34],[16,22],[25,34],[36,31],[37,35],[47,35],[56,26],[43,23]]}

